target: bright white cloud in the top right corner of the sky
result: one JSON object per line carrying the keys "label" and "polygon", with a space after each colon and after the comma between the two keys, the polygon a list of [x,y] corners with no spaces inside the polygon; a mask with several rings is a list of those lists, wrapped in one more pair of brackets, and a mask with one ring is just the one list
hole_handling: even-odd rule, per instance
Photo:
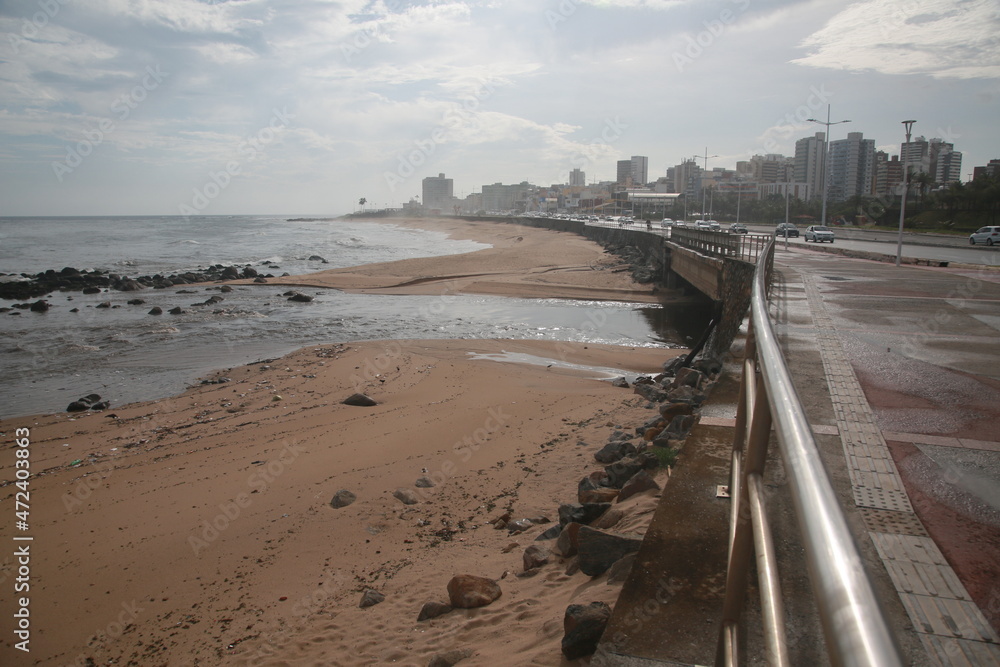
{"label": "bright white cloud in the top right corner of the sky", "polygon": [[801,65],[937,78],[1000,76],[995,0],[867,0],[806,38]]}

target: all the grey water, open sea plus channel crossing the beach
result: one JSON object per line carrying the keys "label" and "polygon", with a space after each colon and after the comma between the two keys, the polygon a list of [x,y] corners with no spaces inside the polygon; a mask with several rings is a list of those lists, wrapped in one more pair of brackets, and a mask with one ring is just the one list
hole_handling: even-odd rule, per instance
{"label": "all the grey water, open sea plus channel crossing the beach", "polygon": [[[291,217],[291,216],[289,216]],[[487,247],[443,233],[381,222],[288,221],[275,216],[184,219],[0,219],[0,272],[64,266],[137,276],[211,264],[251,264],[261,273],[307,274]],[[328,263],[310,261],[312,255]],[[268,267],[280,267],[277,269]],[[208,284],[140,292],[56,292],[44,314],[0,315],[6,390],[0,417],[64,410],[98,393],[121,405],[173,395],[212,370],[273,358],[308,345],[358,340],[512,338],[619,345],[690,345],[704,308],[663,308],[564,299],[346,294],[300,289],[289,302],[275,285]],[[197,306],[212,295],[224,300]],[[142,305],[128,305],[141,298]],[[97,308],[110,302],[111,308]],[[0,302],[0,306],[12,306]],[[153,306],[164,314],[148,315]],[[181,306],[185,313],[166,311]],[[79,312],[70,312],[72,308]],[[20,313],[14,315],[13,313]]]}

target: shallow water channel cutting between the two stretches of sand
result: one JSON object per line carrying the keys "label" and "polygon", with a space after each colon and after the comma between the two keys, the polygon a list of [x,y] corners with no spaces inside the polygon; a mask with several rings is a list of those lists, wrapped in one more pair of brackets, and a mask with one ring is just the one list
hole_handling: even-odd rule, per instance
{"label": "shallow water channel cutting between the two stretches of sand", "polygon": [[[65,410],[90,393],[112,405],[178,394],[207,373],[298,348],[360,340],[512,339],[632,347],[693,345],[711,304],[663,306],[492,296],[394,296],[278,286],[188,286],[57,293],[46,313],[0,315],[8,392],[3,417]],[[218,295],[223,301],[204,303]],[[141,298],[142,304],[130,305]],[[107,304],[106,307],[99,307]],[[160,307],[162,315],[150,315]],[[183,312],[171,315],[171,308]],[[72,312],[77,309],[77,312]],[[18,315],[13,315],[18,312]],[[622,375],[619,373],[618,375]]]}

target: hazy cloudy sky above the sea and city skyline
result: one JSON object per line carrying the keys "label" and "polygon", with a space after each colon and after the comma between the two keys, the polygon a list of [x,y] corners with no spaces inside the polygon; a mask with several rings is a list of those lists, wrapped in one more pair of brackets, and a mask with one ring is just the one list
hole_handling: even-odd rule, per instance
{"label": "hazy cloudy sky above the sea and city skyline", "polygon": [[[1000,157],[996,0],[0,0],[0,216],[338,214],[850,119]],[[703,163],[703,162],[702,162]]]}

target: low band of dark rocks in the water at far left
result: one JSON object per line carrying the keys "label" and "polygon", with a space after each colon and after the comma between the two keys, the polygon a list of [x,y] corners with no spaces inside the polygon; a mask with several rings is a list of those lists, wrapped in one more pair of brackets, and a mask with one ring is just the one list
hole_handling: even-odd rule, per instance
{"label": "low band of dark rocks in the water at far left", "polygon": [[[322,259],[322,258],[319,258]],[[325,261],[325,260],[323,260]],[[272,267],[273,268],[273,267]],[[283,275],[288,275],[283,274]],[[166,289],[175,285],[236,280],[239,278],[273,278],[274,274],[261,274],[250,265],[224,266],[215,264],[208,268],[170,275],[147,275],[130,278],[101,269],[86,270],[67,266],[59,271],[49,269],[41,273],[0,274],[0,299],[33,299],[52,292],[83,292],[97,294],[107,290],[135,292],[141,289]]]}

